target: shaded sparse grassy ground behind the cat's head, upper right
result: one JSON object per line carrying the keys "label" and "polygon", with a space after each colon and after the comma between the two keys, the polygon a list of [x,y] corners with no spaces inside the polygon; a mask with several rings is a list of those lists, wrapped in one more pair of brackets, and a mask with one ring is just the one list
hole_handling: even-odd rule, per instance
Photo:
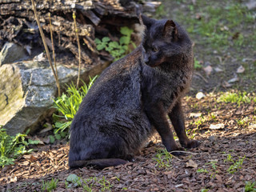
{"label": "shaded sparse grassy ground behind the cat's head, upper right", "polygon": [[[239,65],[245,71],[238,74],[239,82],[232,83],[232,89],[255,92],[256,50],[255,11],[248,10],[244,2],[227,1],[168,1],[165,2],[163,18],[171,18],[180,23],[194,42],[194,54],[198,61],[210,62],[213,68],[219,67],[222,72],[210,74],[209,82],[218,86],[220,82],[230,80]],[[244,61],[244,58],[253,60]],[[194,63],[200,69],[198,62]],[[201,74],[201,73],[200,73]],[[202,71],[202,74],[203,71]],[[214,75],[213,75],[214,74]],[[243,80],[243,81],[242,81]],[[210,83],[210,84],[211,84]],[[228,88],[230,89],[230,88]]]}

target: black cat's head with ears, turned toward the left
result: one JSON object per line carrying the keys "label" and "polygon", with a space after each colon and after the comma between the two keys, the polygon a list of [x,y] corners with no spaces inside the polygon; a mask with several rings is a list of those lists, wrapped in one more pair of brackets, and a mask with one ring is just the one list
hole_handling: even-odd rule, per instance
{"label": "black cat's head with ears, turned toward the left", "polygon": [[186,31],[172,20],[155,20],[142,15],[146,26],[142,41],[143,58],[148,66],[163,62],[177,62],[184,54],[192,52],[192,43]]}

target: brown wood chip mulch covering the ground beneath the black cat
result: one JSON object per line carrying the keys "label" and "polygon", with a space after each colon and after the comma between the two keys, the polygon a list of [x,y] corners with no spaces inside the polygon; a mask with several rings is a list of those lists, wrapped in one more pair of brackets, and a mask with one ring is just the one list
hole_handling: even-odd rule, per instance
{"label": "brown wood chip mulch covering the ground beneath the black cat", "polygon": [[[90,191],[67,182],[70,174],[87,181],[92,191],[244,191],[246,182],[256,181],[256,105],[216,102],[217,97],[184,98],[189,137],[201,145],[171,158],[168,166],[155,160],[164,149],[157,134],[135,162],[105,170],[69,170],[68,144],[37,146],[0,168],[0,191],[42,191],[42,182],[52,178],[58,179],[53,191]],[[107,182],[92,183],[92,178]]]}

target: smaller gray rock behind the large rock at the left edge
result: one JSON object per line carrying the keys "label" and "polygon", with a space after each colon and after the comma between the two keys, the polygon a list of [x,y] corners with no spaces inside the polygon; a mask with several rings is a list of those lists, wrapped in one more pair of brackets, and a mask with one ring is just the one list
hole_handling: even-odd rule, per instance
{"label": "smaller gray rock behind the large rock at the left edge", "polygon": [[26,50],[13,42],[6,42],[0,52],[0,66],[27,58]]}

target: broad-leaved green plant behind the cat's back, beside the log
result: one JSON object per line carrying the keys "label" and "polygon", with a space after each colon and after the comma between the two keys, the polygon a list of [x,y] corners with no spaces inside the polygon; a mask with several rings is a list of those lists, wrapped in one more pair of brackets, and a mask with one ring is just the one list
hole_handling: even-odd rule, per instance
{"label": "broad-leaved green plant behind the cat's back, beside the log", "polygon": [[134,48],[136,46],[134,42],[130,40],[130,36],[133,33],[133,30],[131,30],[127,26],[123,26],[120,29],[120,33],[122,34],[122,37],[119,39],[119,42],[112,42],[108,37],[104,37],[102,38],[102,40],[100,40],[99,38],[95,38],[96,49],[105,49],[114,57],[114,61],[123,58],[131,51],[129,48],[130,44],[134,46]]}

